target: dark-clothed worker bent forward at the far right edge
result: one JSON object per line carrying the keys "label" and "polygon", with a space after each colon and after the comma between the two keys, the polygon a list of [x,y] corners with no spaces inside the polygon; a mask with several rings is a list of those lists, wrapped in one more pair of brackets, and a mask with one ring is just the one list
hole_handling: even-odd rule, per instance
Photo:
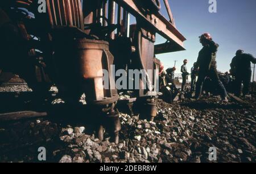
{"label": "dark-clothed worker bent forward at the far right edge", "polygon": [[238,49],[236,56],[230,64],[231,71],[235,77],[234,93],[237,97],[241,95],[241,86],[243,84],[243,96],[249,93],[249,85],[251,81],[251,63],[256,64],[256,59],[250,54],[243,53]]}

